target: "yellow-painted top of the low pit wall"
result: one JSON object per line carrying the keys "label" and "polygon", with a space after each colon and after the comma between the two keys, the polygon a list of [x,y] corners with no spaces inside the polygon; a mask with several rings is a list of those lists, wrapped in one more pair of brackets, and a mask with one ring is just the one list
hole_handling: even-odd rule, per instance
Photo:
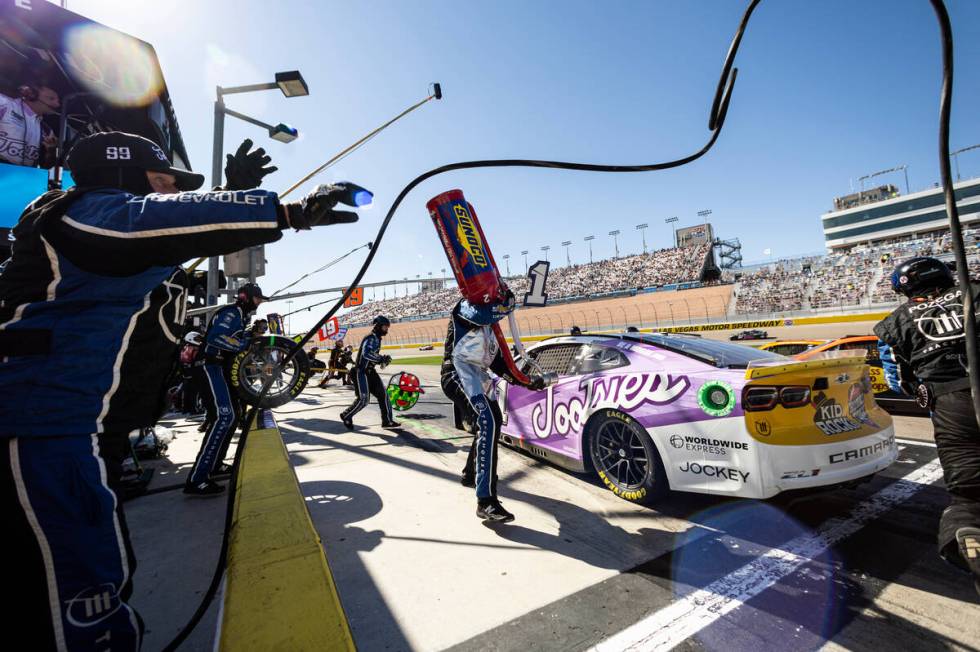
{"label": "yellow-painted top of the low pit wall", "polygon": [[355,650],[282,435],[268,412],[259,421],[238,473],[219,649]]}

